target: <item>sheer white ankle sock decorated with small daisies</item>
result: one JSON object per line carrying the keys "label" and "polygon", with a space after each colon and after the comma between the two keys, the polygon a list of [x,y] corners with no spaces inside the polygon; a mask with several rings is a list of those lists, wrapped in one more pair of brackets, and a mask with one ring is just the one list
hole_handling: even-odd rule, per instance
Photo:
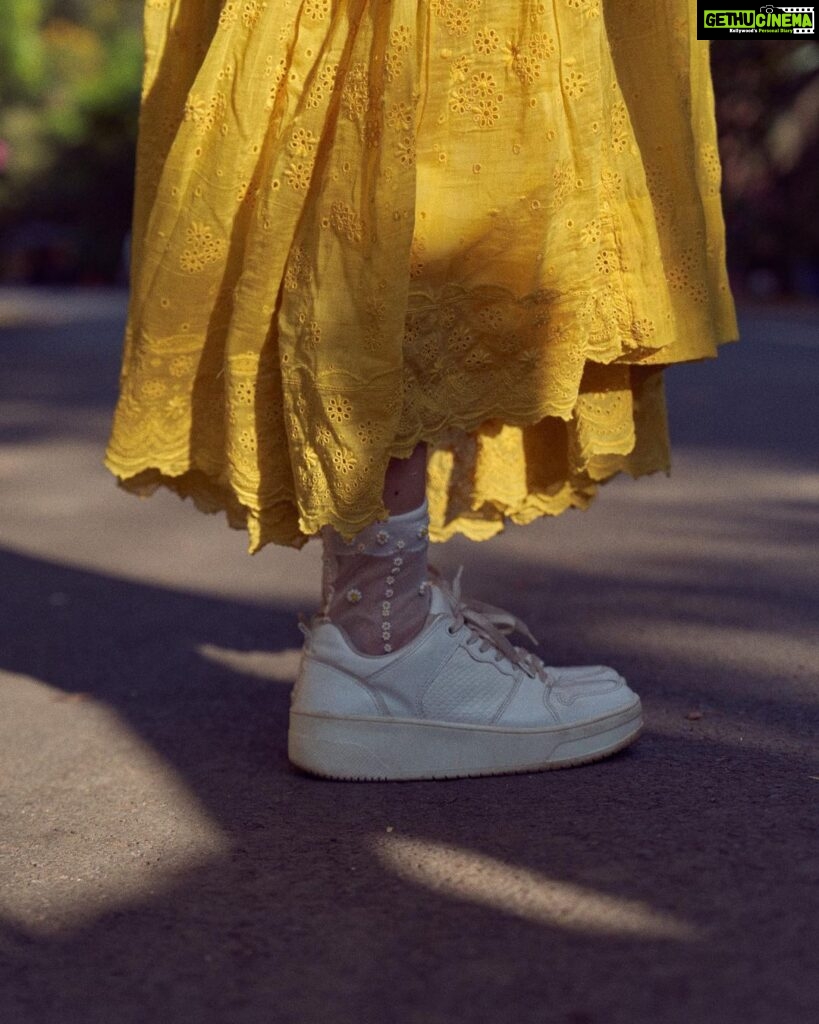
{"label": "sheer white ankle sock decorated with small daisies", "polygon": [[375,522],[345,541],[321,531],[322,614],[363,654],[397,650],[421,631],[429,613],[426,501],[412,512]]}

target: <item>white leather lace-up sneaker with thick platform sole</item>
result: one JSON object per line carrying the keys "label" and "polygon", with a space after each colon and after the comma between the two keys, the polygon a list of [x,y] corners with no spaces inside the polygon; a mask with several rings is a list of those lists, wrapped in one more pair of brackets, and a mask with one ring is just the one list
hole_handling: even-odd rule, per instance
{"label": "white leather lace-up sneaker with thick platform sole", "polygon": [[[508,612],[431,584],[424,629],[390,654],[303,627],[288,753],[330,778],[461,778],[597,761],[637,738],[640,698],[605,666],[547,667],[506,638]],[[526,631],[528,632],[528,631]]]}

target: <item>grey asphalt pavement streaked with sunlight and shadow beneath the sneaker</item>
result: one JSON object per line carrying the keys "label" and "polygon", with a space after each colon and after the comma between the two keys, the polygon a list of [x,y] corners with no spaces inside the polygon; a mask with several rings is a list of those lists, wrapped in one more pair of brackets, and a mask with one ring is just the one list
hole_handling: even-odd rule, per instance
{"label": "grey asphalt pavement streaked with sunlight and shadow beneath the sneaker", "polygon": [[639,742],[350,784],[286,757],[314,546],[101,466],[124,301],[0,291],[0,1021],[815,1024],[819,312],[669,373],[671,477],[436,553]]}

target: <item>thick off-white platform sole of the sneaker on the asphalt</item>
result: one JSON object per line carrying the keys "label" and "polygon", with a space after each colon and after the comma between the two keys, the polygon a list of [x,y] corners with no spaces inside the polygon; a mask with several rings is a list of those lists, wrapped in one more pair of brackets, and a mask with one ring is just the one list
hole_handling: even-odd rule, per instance
{"label": "thick off-white platform sole of the sneaker on the asphalt", "polygon": [[642,727],[639,699],[593,722],[543,729],[291,712],[288,756],[313,775],[362,782],[508,775],[599,761]]}

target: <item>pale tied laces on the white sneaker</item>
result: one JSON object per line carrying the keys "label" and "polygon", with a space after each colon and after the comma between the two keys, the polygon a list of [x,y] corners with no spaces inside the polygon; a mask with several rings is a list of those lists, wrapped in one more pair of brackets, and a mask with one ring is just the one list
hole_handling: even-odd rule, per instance
{"label": "pale tied laces on the white sneaker", "polygon": [[507,639],[513,633],[520,633],[532,643],[538,643],[531,630],[521,618],[505,608],[495,607],[485,601],[464,598],[461,594],[463,565],[459,567],[451,584],[436,568],[433,566],[429,568],[432,581],[450,599],[452,607],[450,633],[456,633],[462,626],[466,626],[472,634],[467,643],[479,643],[478,650],[481,653],[494,648],[495,662],[501,662],[506,657],[513,665],[522,669],[531,679],[540,679],[549,685],[554,683],[549,670],[536,654],[523,647],[517,647]]}

